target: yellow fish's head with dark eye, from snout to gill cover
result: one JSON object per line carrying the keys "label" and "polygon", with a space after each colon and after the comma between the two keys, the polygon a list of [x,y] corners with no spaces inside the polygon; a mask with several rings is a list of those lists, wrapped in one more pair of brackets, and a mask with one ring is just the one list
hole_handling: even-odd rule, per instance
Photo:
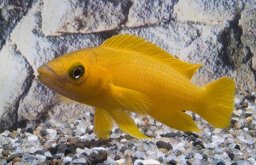
{"label": "yellow fish's head with dark eye, from snout to gill cover", "polygon": [[83,103],[108,91],[111,72],[97,63],[91,49],[81,49],[45,63],[37,77],[51,90]]}

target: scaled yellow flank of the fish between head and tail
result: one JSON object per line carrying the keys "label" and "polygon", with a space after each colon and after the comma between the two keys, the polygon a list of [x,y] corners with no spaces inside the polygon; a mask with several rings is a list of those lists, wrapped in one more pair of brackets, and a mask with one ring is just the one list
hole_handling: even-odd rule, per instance
{"label": "scaled yellow flank of the fish between head and tail", "polygon": [[[202,93],[201,88],[189,83],[189,80],[179,72],[163,63],[147,57],[140,57],[138,54],[127,54],[108,49],[99,49],[99,51],[95,49],[94,51],[98,55],[98,62],[111,70],[112,80],[116,86],[140,91],[152,97],[154,100],[152,112],[161,112],[163,109],[161,105],[172,105],[167,107],[170,111],[193,110],[191,105],[204,99],[200,94]],[[124,61],[127,56],[129,59]],[[194,98],[194,101],[191,98]]]}

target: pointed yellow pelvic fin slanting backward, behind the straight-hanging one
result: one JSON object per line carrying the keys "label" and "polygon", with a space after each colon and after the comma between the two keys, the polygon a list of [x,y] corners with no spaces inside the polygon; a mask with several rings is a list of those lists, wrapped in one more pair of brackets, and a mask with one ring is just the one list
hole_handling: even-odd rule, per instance
{"label": "pointed yellow pelvic fin slanting backward, behind the straight-hanging one", "polygon": [[134,120],[132,120],[129,113],[122,110],[115,110],[115,109],[108,109],[108,113],[110,114],[111,118],[116,122],[116,125],[125,133],[133,136],[134,138],[147,138],[150,139],[148,136],[145,136],[140,132]]}

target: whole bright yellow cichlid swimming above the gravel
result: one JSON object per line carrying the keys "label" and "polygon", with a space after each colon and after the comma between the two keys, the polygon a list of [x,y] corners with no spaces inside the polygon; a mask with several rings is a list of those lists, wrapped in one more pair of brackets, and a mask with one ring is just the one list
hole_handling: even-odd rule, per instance
{"label": "whole bright yellow cichlid swimming above the gravel", "polygon": [[190,83],[201,66],[180,61],[138,36],[116,35],[99,47],[45,63],[38,79],[64,98],[95,107],[98,138],[108,139],[114,123],[131,136],[148,138],[128,112],[148,114],[182,131],[200,131],[185,111],[220,129],[230,125],[236,84],[228,77],[203,87]]}

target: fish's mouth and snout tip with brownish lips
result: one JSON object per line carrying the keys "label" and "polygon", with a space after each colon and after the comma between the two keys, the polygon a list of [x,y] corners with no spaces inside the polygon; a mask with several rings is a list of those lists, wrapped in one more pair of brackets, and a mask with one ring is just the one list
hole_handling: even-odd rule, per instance
{"label": "fish's mouth and snout tip with brownish lips", "polygon": [[56,74],[56,72],[54,72],[48,65],[45,65],[45,64],[41,65],[37,69],[37,72],[38,72],[37,79],[43,84],[45,84],[46,86],[51,86],[51,84],[61,83],[61,79],[58,76],[58,74]]}

